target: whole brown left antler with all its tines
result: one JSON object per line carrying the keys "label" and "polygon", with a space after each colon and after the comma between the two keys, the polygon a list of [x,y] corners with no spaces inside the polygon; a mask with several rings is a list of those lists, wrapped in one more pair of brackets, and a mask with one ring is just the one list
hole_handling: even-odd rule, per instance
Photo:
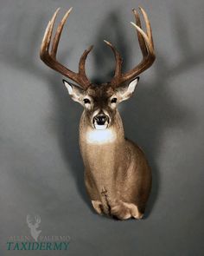
{"label": "whole brown left antler with all its tines", "polygon": [[60,38],[61,38],[61,31],[62,31],[64,24],[67,21],[67,17],[69,16],[72,9],[73,8],[70,8],[67,11],[65,16],[62,18],[61,23],[59,23],[56,33],[54,35],[52,48],[49,51],[51,37],[53,34],[53,29],[54,29],[54,22],[55,22],[56,16],[57,16],[60,8],[58,8],[54,12],[54,16],[49,21],[48,27],[45,30],[45,34],[44,34],[44,37],[43,37],[43,40],[41,43],[40,56],[41,56],[41,60],[43,62],[45,62],[48,65],[48,67],[60,72],[62,75],[66,75],[68,78],[70,78],[74,82],[77,82],[78,84],[80,84],[81,87],[86,89],[91,84],[91,82],[88,80],[88,78],[86,76],[85,63],[86,63],[86,57],[88,56],[89,52],[92,50],[92,46],[89,49],[86,49],[84,51],[83,55],[80,57],[78,73],[75,73],[75,72],[71,71],[70,69],[67,69],[60,62],[58,62],[56,60],[56,53],[57,53],[58,44],[59,44]]}

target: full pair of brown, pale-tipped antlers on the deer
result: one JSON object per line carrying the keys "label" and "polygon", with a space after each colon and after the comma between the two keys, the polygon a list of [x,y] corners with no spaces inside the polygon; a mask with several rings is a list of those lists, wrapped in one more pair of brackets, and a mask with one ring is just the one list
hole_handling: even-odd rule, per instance
{"label": "full pair of brown, pale-tipped antlers on the deer", "polygon": [[[131,23],[131,24],[137,30],[138,42],[143,54],[143,60],[134,69],[131,69],[130,71],[123,74],[122,73],[123,59],[119,55],[118,50],[112,45],[112,43],[105,41],[105,43],[107,43],[107,45],[111,47],[116,59],[115,74],[111,82],[112,86],[114,87],[118,87],[121,83],[130,81],[131,79],[135,78],[137,75],[141,74],[144,70],[149,69],[156,58],[149,18],[142,7],[139,7],[139,9],[143,14],[147,32],[145,33],[142,30],[140,17],[137,13],[137,10],[133,9],[132,11],[134,13],[136,23]],[[68,78],[70,78],[74,82],[77,82],[78,84],[80,84],[81,87],[83,87],[84,89],[87,89],[88,86],[91,84],[91,82],[88,80],[86,76],[85,64],[86,64],[86,57],[92,50],[92,46],[89,49],[86,49],[83,55],[80,57],[78,73],[75,73],[70,69],[67,69],[65,66],[63,66],[60,62],[56,60],[56,53],[57,53],[57,48],[61,38],[61,32],[63,30],[64,24],[66,23],[67,17],[69,16],[72,8],[70,8],[67,11],[65,16],[62,18],[61,23],[59,23],[56,33],[54,35],[52,48],[51,50],[49,50],[51,37],[54,29],[54,22],[59,10],[60,8],[58,8],[54,12],[54,16],[49,21],[48,27],[45,31],[45,35],[41,43],[41,51],[40,51],[41,60],[45,62],[48,65],[48,67],[50,67],[51,69],[54,69],[60,72],[62,75],[66,75]]]}

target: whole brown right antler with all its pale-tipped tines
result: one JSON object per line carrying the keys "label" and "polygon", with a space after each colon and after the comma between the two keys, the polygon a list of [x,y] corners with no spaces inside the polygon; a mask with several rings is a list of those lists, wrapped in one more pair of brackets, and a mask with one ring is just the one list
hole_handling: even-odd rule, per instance
{"label": "whole brown right antler with all its pale-tipped tines", "polygon": [[112,43],[105,41],[105,43],[107,43],[107,45],[111,47],[116,59],[115,75],[113,76],[112,82],[111,82],[112,86],[115,86],[115,87],[118,87],[123,82],[130,81],[131,79],[135,78],[137,75],[141,74],[144,70],[149,69],[156,58],[149,18],[142,7],[139,7],[139,9],[143,14],[147,32],[145,33],[142,30],[140,17],[137,13],[137,10],[133,9],[132,11],[134,13],[136,23],[131,23],[131,24],[137,30],[138,42],[143,54],[143,60],[134,69],[131,69],[125,74],[122,74],[123,60],[119,55],[118,50],[114,46],[112,46]]}

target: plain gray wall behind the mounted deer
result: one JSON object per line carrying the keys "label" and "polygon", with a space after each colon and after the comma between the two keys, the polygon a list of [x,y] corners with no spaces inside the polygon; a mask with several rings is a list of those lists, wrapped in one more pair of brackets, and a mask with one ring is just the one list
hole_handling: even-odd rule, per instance
{"label": "plain gray wall behind the mounted deer", "polygon": [[[105,82],[114,62],[104,38],[124,56],[125,70],[141,58],[129,23],[139,4],[157,59],[121,114],[154,181],[145,220],[119,222],[92,212],[78,148],[82,109],[38,52],[54,10],[73,6],[59,59],[77,69],[93,43],[87,72]],[[1,255],[203,255],[203,11],[201,0],[1,0]],[[41,234],[69,235],[68,252],[7,252],[9,236],[29,234],[28,213],[41,215]]]}

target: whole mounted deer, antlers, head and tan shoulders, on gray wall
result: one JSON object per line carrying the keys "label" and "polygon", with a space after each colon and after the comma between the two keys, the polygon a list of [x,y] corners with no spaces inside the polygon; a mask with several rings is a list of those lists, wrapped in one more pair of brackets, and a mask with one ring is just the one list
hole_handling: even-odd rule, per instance
{"label": "whole mounted deer, antlers, head and tan shoulders, on gray wall", "polygon": [[[92,207],[99,214],[106,214],[119,220],[142,219],[150,195],[151,172],[143,151],[132,141],[124,138],[124,128],[118,113],[118,103],[133,94],[139,78],[137,75],[150,68],[155,61],[154,44],[150,21],[143,14],[146,32],[142,30],[137,10],[133,10],[137,37],[143,60],[133,69],[122,73],[122,58],[118,50],[112,49],[116,67],[111,82],[93,84],[86,76],[86,57],[92,47],[80,57],[79,72],[67,69],[56,59],[61,31],[72,8],[67,11],[58,25],[52,41],[54,21],[58,10],[48,23],[41,43],[41,60],[48,67],[66,75],[78,85],[63,80],[73,101],[79,102],[84,111],[80,118],[80,152],[85,165],[86,190],[92,200]],[[50,50],[50,43],[51,50]]]}

